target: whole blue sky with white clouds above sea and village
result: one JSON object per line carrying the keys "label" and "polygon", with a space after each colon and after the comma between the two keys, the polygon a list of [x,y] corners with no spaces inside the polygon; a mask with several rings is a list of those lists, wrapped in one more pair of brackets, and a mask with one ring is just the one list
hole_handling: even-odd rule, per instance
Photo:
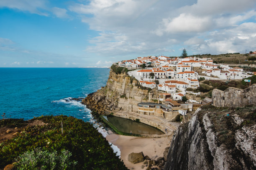
{"label": "whole blue sky with white clouds above sea and village", "polygon": [[0,0],[0,67],[256,51],[255,0]]}

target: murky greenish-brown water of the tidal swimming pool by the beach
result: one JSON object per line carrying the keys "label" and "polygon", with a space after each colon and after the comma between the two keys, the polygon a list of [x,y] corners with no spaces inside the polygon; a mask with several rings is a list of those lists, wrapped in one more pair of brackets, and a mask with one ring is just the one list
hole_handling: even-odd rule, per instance
{"label": "murky greenish-brown water of the tidal swimming pool by the beach", "polygon": [[157,128],[130,119],[115,117],[112,115],[104,116],[104,118],[107,119],[110,123],[112,123],[118,130],[125,133],[130,133],[132,131],[133,134],[140,135],[164,134],[161,130]]}

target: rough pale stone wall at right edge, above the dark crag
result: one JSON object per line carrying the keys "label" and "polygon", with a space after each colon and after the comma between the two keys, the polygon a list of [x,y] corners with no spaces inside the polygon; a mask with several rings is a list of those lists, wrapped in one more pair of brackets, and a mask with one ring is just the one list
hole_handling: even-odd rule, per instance
{"label": "rough pale stone wall at right edge, above the dark crag", "polygon": [[212,91],[212,104],[216,107],[241,107],[256,104],[256,84],[251,85],[245,90],[235,87],[221,91]]}

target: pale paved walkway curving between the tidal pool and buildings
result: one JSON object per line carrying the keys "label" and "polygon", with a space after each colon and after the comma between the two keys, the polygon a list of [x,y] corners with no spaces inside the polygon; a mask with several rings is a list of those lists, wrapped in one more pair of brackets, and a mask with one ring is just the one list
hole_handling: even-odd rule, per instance
{"label": "pale paved walkway curving between the tidal pool and buildings", "polygon": [[[173,135],[174,131],[177,130],[180,123],[177,122],[171,122],[170,120],[158,117],[158,116],[149,116],[149,115],[141,115],[136,112],[126,112],[126,111],[117,111],[114,112],[114,116],[123,117],[126,119],[136,120],[139,119],[140,122],[145,123],[147,125],[151,125],[155,128],[160,129],[165,133],[165,129],[167,133],[164,135]],[[161,137],[163,135],[146,135],[148,137]]]}

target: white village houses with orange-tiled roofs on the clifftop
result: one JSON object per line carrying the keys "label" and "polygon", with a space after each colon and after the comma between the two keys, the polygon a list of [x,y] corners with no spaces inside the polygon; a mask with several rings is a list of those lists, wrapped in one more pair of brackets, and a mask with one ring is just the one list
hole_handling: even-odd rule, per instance
{"label": "white village houses with orange-tiled roofs on the clifftop", "polygon": [[254,74],[240,67],[216,64],[208,57],[147,56],[123,60],[115,65],[126,67],[128,75],[136,78],[140,85],[161,92],[157,99],[153,99],[156,100],[154,102],[138,103],[138,114],[156,115],[169,120],[212,102],[209,97],[201,100],[185,97],[186,94],[200,95],[200,92],[193,90],[200,87],[200,80],[241,80]]}

